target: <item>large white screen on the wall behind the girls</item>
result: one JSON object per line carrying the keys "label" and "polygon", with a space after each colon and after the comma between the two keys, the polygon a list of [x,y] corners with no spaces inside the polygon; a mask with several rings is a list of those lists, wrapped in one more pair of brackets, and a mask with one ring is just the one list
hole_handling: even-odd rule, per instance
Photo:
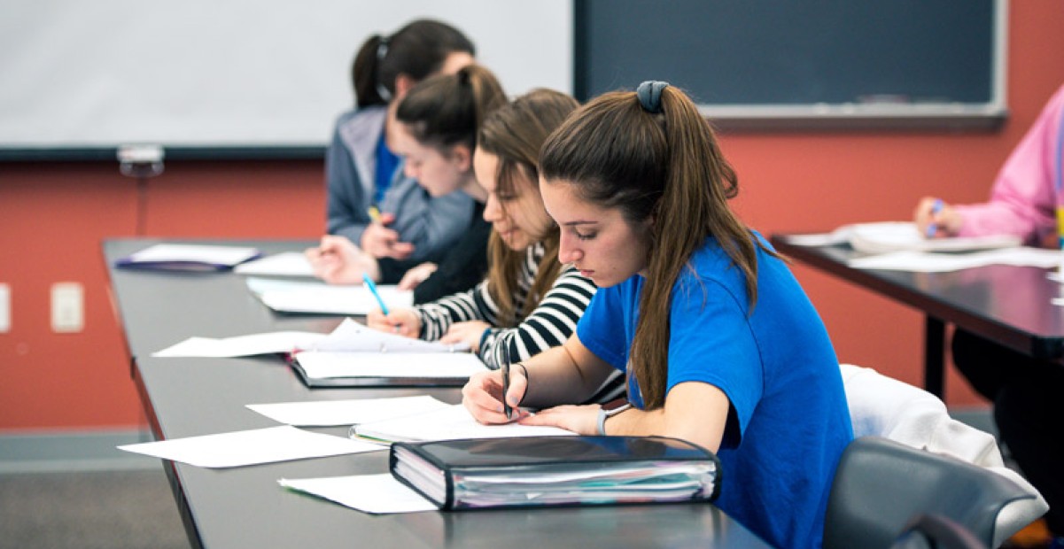
{"label": "large white screen on the wall behind the girls", "polygon": [[0,0],[0,152],[320,148],[359,46],[419,17],[511,96],[572,91],[572,0]]}

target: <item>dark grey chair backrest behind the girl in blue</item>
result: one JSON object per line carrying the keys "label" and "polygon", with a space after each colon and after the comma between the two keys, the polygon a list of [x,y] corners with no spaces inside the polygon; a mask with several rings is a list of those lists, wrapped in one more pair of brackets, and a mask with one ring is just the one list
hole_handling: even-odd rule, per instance
{"label": "dark grey chair backrest behind the girl in blue", "polygon": [[835,471],[825,549],[887,549],[920,514],[944,516],[996,547],[998,514],[1037,496],[991,470],[879,436],[855,438]]}

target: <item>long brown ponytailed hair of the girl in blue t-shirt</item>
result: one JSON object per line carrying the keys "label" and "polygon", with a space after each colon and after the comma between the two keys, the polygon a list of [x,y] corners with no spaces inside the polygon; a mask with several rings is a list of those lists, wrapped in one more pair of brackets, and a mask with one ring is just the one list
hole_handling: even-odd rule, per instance
{"label": "long brown ponytailed hair of the girl in blue t-shirt", "polygon": [[551,134],[539,172],[582,200],[619,209],[630,224],[654,220],[629,361],[647,410],[664,405],[672,286],[706,238],[742,270],[751,307],[758,299],[761,244],[728,207],[738,181],[713,130],[676,87],[662,90],[656,114],[633,91],[604,94]]}

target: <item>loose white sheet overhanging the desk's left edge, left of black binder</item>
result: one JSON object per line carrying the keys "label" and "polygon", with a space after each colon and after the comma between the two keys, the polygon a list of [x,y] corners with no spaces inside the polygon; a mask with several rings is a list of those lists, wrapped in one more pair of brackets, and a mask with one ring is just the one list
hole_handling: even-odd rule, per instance
{"label": "loose white sheet overhanging the desk's left edge, left of black binder", "polygon": [[153,455],[198,467],[239,467],[382,450],[365,440],[303,431],[290,426],[236,431],[154,443],[119,446],[119,450]]}

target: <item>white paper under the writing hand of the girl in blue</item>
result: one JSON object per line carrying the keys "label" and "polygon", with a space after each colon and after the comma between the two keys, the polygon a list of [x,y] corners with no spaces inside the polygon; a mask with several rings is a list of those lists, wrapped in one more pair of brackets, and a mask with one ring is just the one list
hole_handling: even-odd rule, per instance
{"label": "white paper under the writing hand of the girl in blue", "polygon": [[354,426],[352,431],[356,436],[387,442],[576,435],[571,431],[556,427],[522,426],[520,423],[486,426],[473,419],[462,404],[454,404],[446,410],[416,416],[362,423]]}

